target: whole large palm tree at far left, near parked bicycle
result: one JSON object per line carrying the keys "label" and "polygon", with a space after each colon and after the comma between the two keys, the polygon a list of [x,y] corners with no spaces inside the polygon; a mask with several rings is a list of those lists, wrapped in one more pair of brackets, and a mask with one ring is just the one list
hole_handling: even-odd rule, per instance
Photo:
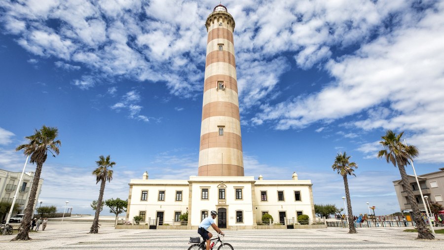
{"label": "whole large palm tree at far left, near parked bicycle", "polygon": [[[46,127],[43,125],[40,130],[36,129],[36,132],[32,136],[27,136],[25,139],[28,141],[28,144],[19,145],[15,151],[19,151],[23,149],[23,153],[25,155],[31,155],[30,163],[37,163],[36,173],[34,173],[34,180],[31,186],[31,192],[29,194],[28,205],[25,209],[25,216],[22,221],[22,232],[20,232],[14,239],[11,241],[28,241],[32,240],[29,238],[29,229],[28,225],[31,224],[31,219],[34,214],[34,203],[36,202],[36,194],[38,182],[40,180],[41,169],[43,163],[46,161],[47,152],[51,152],[52,156],[55,157],[55,154],[59,154],[59,146],[62,143],[57,140],[57,136],[59,131],[56,127]],[[51,151],[52,150],[52,151]]]}

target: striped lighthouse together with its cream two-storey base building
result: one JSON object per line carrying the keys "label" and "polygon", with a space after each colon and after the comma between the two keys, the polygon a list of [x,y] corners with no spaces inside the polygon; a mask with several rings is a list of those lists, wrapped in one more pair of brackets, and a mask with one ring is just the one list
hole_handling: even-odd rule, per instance
{"label": "striped lighthouse together with its cream two-storey base building", "polygon": [[[142,224],[186,224],[197,229],[211,211],[218,226],[254,229],[263,214],[276,223],[295,221],[300,214],[315,218],[312,183],[298,180],[264,180],[244,176],[242,137],[234,58],[234,19],[218,5],[205,23],[205,65],[202,121],[197,176],[188,180],[142,179],[129,183],[126,220],[142,217]],[[188,220],[180,221],[188,213]],[[293,222],[292,222],[293,223]]]}

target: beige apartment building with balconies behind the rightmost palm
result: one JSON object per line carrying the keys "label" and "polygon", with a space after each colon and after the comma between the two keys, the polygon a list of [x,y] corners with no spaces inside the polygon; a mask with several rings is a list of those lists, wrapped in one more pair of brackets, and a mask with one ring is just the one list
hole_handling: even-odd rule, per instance
{"label": "beige apartment building with balconies behind the rightmost palm", "polygon": [[[415,195],[416,203],[420,211],[425,212],[424,204],[422,203],[419,188],[421,188],[422,195],[428,196],[428,201],[438,202],[444,206],[444,168],[440,168],[440,171],[429,174],[419,175],[419,187],[416,183],[414,176],[408,176],[408,182]],[[401,211],[411,210],[410,201],[407,198],[407,192],[404,191],[404,184],[402,180],[393,181],[395,186],[396,196],[398,197],[399,207]],[[426,202],[427,203],[427,202]]]}

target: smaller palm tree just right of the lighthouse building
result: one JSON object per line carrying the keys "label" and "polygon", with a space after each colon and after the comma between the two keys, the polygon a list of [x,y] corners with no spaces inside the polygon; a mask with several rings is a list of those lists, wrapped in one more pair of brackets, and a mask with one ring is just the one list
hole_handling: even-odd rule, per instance
{"label": "smaller palm tree just right of the lighthouse building", "polygon": [[350,157],[345,152],[343,154],[338,153],[336,158],[334,159],[334,163],[332,165],[332,168],[334,171],[337,171],[338,175],[342,176],[342,179],[344,179],[344,187],[345,187],[345,198],[347,199],[347,212],[348,212],[348,228],[350,229],[348,231],[349,234],[356,234],[356,228],[355,223],[353,219],[353,211],[351,208],[351,201],[350,201],[350,191],[348,190],[348,180],[347,176],[356,176],[353,171],[354,168],[358,168],[358,164],[356,162],[350,162]]}

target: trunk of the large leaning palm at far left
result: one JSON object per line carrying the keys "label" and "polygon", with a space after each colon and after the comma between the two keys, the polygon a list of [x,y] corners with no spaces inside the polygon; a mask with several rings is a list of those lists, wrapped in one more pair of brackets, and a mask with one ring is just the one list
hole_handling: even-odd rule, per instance
{"label": "trunk of the large leaning palm at far left", "polygon": [[[45,160],[46,160],[46,157],[45,157]],[[34,215],[34,204],[36,203],[38,182],[40,180],[40,174],[41,174],[43,162],[45,162],[45,161],[43,160],[43,161],[37,162],[36,173],[34,173],[33,185],[31,186],[31,191],[29,193],[28,205],[26,206],[25,215],[23,216],[22,223],[20,224],[20,226],[23,228],[23,230],[19,234],[17,234],[17,236],[14,239],[12,239],[11,241],[32,240],[31,238],[29,238],[29,230],[30,230],[29,226],[31,225],[31,219],[33,218],[33,215]],[[17,187],[17,188],[20,188],[20,187]]]}

